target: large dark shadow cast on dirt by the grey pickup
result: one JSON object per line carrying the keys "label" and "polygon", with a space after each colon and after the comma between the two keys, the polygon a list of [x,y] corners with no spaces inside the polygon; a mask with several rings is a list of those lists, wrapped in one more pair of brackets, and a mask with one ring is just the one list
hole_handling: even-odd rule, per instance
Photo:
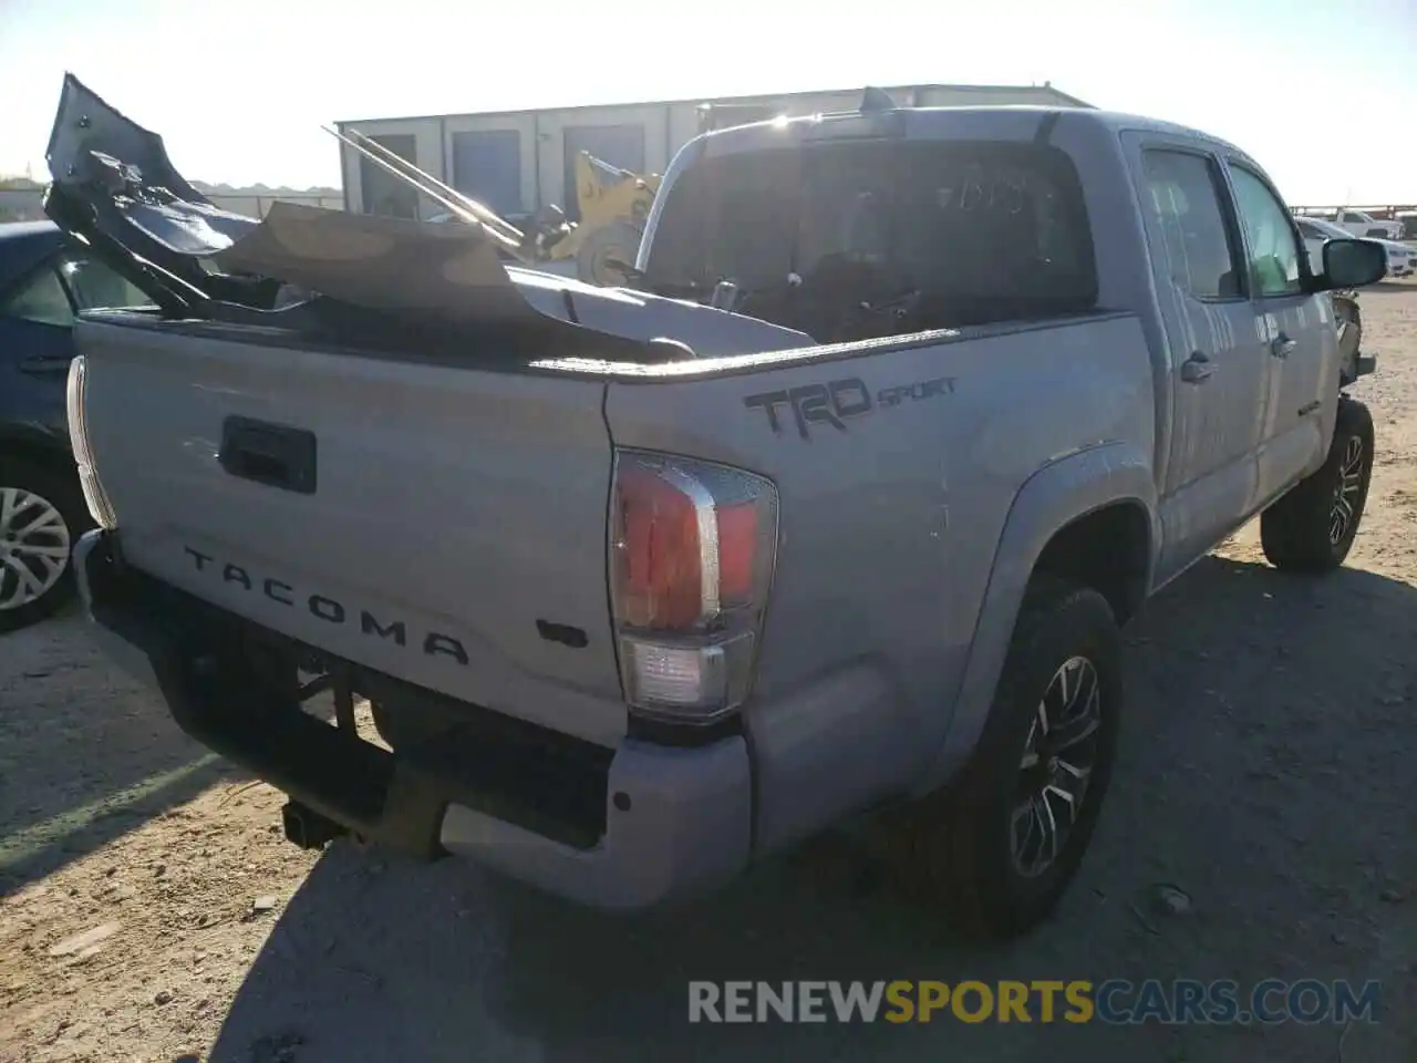
{"label": "large dark shadow cast on dirt by the grey pickup", "polygon": [[[473,869],[333,846],[211,1060],[1410,1059],[1417,591],[1202,561],[1128,631],[1129,716],[1093,850],[1026,941],[966,947],[826,839],[691,909],[577,910]],[[1190,914],[1148,909],[1180,886]],[[1404,944],[1408,943],[1408,944]],[[1383,981],[1380,1026],[691,1026],[690,979]],[[1396,1006],[1394,1006],[1396,1005]],[[1406,1046],[1406,1047],[1404,1047]]]}

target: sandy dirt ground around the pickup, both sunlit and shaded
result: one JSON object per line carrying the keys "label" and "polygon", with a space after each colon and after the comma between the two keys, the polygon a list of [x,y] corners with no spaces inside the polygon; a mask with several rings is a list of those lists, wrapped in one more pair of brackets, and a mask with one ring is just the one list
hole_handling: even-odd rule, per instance
{"label": "sandy dirt ground around the pickup, both sunlit and shaded", "polygon": [[[0,641],[0,1060],[1417,1060],[1417,283],[1363,295],[1379,463],[1349,567],[1241,532],[1128,629],[1129,716],[1057,917],[966,948],[846,842],[689,911],[570,909],[278,833],[77,615]],[[1189,913],[1153,914],[1180,886]],[[1379,979],[1377,1023],[690,1026],[689,979]]]}

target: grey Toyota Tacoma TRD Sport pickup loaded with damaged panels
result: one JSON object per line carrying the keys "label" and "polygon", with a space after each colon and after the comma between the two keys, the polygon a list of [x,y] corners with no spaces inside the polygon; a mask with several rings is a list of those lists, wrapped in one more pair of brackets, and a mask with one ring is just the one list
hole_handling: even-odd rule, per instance
{"label": "grey Toyota Tacoma TRD Sport pickup loaded with damaged panels", "polygon": [[941,909],[1017,934],[1102,804],[1119,625],[1257,513],[1295,573],[1363,513],[1328,292],[1383,249],[1315,275],[1190,129],[869,94],[717,130],[622,289],[476,224],[224,214],[72,79],[50,169],[156,306],[78,326],[94,629],[300,845],[642,909],[894,808]]}

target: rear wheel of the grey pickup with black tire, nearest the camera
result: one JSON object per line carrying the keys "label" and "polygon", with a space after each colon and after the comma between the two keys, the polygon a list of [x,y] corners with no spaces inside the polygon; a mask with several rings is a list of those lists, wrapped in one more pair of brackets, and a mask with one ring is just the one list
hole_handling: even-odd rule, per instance
{"label": "rear wheel of the grey pickup with black tire, nearest the camera", "polygon": [[[1085,716],[1061,712],[1068,693],[1063,675],[1077,694],[1073,707]],[[941,906],[973,937],[1017,937],[1046,918],[1091,840],[1111,781],[1121,704],[1121,638],[1107,600],[1091,588],[1037,577],[973,757],[955,782],[910,814],[907,846],[897,856],[907,862],[901,870],[911,892]],[[1066,719],[1078,721],[1070,727],[1078,734],[1087,720],[1087,733],[1060,755],[1040,760],[1040,713],[1054,734]],[[1049,789],[1054,784],[1074,795],[1070,825],[1068,804]],[[1054,835],[1056,856],[1034,866],[1034,857],[1047,855],[1036,845],[1047,838],[1046,814],[1066,831]]]}

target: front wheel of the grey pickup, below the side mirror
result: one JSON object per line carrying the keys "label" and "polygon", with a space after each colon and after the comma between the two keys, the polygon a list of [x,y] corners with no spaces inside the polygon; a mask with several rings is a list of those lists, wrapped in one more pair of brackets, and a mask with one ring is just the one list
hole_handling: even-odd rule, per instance
{"label": "front wheel of the grey pickup, below the side mirror", "polygon": [[1260,543],[1275,568],[1329,573],[1343,564],[1357,537],[1373,476],[1373,415],[1340,395],[1333,442],[1323,465],[1260,516]]}

